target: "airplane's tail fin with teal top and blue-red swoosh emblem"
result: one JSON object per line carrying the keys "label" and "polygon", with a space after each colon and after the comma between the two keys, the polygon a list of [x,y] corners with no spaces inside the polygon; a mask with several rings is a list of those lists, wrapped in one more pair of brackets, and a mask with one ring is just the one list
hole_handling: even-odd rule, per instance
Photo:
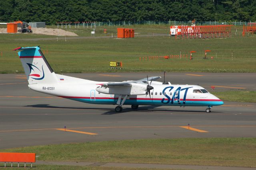
{"label": "airplane's tail fin with teal top and blue-red swoosh emblem", "polygon": [[18,56],[22,62],[29,84],[52,84],[57,83],[58,79],[47,62],[39,46],[19,47]]}

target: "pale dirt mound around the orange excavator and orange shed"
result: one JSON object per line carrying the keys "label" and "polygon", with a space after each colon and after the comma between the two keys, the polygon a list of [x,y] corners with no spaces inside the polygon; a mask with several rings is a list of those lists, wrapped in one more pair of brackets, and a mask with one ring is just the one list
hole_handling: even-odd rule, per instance
{"label": "pale dirt mound around the orange excavator and orange shed", "polygon": [[[20,28],[18,28],[19,30]],[[32,28],[33,34],[45,34],[45,35],[54,35],[54,36],[78,36],[74,32],[65,31],[62,29],[52,29],[52,28]],[[0,28],[0,33],[6,33],[7,28]],[[27,33],[31,34],[31,33]]]}

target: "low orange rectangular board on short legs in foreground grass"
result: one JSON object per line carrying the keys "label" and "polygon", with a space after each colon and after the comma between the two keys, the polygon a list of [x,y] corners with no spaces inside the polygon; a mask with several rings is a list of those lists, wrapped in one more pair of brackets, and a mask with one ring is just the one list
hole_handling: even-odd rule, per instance
{"label": "low orange rectangular board on short legs in foreground grass", "polygon": [[36,162],[35,153],[12,153],[12,152],[0,152],[0,162],[4,162],[4,167],[6,167],[6,162],[24,162],[26,167],[26,162],[31,163]]}

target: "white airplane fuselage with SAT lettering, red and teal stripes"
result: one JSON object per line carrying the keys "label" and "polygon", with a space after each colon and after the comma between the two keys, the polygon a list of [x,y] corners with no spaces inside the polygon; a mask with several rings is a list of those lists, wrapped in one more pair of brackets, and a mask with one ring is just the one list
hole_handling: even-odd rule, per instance
{"label": "white airplane fuselage with SAT lettering, red and teal stripes", "polygon": [[[92,104],[116,104],[116,94],[104,94],[96,91],[101,84],[108,82],[96,82],[70,76],[56,74],[58,83],[54,84],[29,84],[29,88],[62,98],[68,98]],[[204,88],[196,85],[174,85],[152,82],[154,87],[149,94],[129,95],[124,104],[129,105],[173,105],[173,106],[218,106],[223,102],[209,92],[197,92]],[[124,98],[124,96],[122,96]]]}

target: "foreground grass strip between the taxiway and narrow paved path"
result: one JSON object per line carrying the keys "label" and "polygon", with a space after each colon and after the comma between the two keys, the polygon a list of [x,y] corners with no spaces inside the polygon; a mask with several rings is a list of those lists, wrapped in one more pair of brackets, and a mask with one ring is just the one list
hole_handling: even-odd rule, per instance
{"label": "foreground grass strip between the taxiway and narrow paved path", "polygon": [[256,138],[182,138],[86,142],[1,150],[37,160],[256,167]]}

